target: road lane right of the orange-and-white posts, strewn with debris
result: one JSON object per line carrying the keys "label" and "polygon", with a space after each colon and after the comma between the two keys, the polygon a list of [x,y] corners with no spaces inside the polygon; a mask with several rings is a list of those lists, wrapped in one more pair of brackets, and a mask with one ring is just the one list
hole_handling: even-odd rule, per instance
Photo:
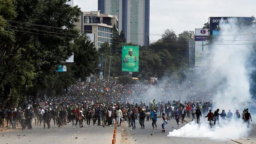
{"label": "road lane right of the orange-and-white posts, strewn with debris", "polygon": [[[187,120],[191,120],[188,119]],[[145,129],[140,129],[139,122],[136,123],[136,130],[129,131],[131,128],[128,127],[126,123],[123,125],[122,130],[122,144],[149,144],[149,143],[174,143],[174,144],[249,144],[256,143],[256,132],[252,130],[252,133],[248,137],[243,137],[242,139],[231,140],[211,140],[209,138],[185,138],[185,137],[167,137],[168,132],[173,132],[174,129],[179,129],[176,121],[171,119],[166,125],[166,132],[161,132],[161,124],[163,123],[162,119],[157,120],[158,130],[152,129],[152,122],[145,122]],[[186,122],[181,123],[181,127],[184,126]],[[253,127],[256,127],[255,124],[252,124]],[[193,133],[193,131],[191,131]],[[249,138],[250,140],[248,140]],[[136,141],[135,141],[136,140]]]}

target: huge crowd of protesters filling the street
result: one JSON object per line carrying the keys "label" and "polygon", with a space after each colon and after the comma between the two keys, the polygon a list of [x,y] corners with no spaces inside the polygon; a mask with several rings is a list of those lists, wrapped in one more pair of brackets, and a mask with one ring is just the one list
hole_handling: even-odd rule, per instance
{"label": "huge crowd of protesters filling the street", "polygon": [[[153,129],[158,129],[156,121],[162,117],[164,131],[164,126],[171,119],[176,120],[179,127],[180,119],[183,123],[186,117],[192,117],[199,123],[203,115],[212,126],[219,123],[219,115],[230,121],[233,117],[238,118],[239,114],[238,110],[234,116],[230,111],[225,114],[224,110],[219,114],[219,109],[212,114],[211,109],[215,107],[211,95],[214,90],[195,88],[191,83],[152,86],[77,82],[65,91],[62,97],[38,98],[35,102],[26,96],[26,101],[19,107],[1,109],[1,126],[15,129],[21,125],[22,129],[28,127],[30,130],[33,125],[43,125],[43,128],[50,129],[53,120],[54,127],[64,127],[67,123],[72,123],[73,128],[78,125],[90,127],[91,124],[105,127],[116,121],[118,126],[125,122],[128,127],[136,129],[135,121],[139,120],[140,128],[145,129],[146,120],[152,121]],[[255,101],[242,105],[247,108],[255,106]],[[241,118],[249,126],[249,119],[252,119],[248,109],[243,110]]]}

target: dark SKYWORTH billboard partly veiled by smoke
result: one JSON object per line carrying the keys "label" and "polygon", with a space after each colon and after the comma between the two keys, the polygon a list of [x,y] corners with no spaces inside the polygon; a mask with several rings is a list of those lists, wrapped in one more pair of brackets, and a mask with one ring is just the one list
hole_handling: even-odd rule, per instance
{"label": "dark SKYWORTH billboard partly veiled by smoke", "polygon": [[209,21],[210,35],[215,36],[220,34],[220,23],[236,21],[237,27],[247,28],[253,24],[253,17],[210,17]]}

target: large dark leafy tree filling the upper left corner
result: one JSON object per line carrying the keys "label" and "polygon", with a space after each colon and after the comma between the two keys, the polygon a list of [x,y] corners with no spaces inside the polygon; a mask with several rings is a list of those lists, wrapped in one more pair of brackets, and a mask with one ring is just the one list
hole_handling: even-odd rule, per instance
{"label": "large dark leafy tree filling the upper left corner", "polygon": [[8,102],[14,104],[25,94],[37,96],[53,88],[55,66],[72,55],[71,41],[78,36],[74,22],[78,21],[80,8],[65,2],[0,0],[2,107]]}

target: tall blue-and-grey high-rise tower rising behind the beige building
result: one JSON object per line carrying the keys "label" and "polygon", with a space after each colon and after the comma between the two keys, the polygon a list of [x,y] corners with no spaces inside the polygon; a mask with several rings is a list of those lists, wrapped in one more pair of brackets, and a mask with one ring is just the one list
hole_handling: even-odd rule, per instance
{"label": "tall blue-and-grey high-rise tower rising behind the beige building", "polygon": [[98,10],[117,15],[127,43],[149,46],[149,0],[98,0]]}

